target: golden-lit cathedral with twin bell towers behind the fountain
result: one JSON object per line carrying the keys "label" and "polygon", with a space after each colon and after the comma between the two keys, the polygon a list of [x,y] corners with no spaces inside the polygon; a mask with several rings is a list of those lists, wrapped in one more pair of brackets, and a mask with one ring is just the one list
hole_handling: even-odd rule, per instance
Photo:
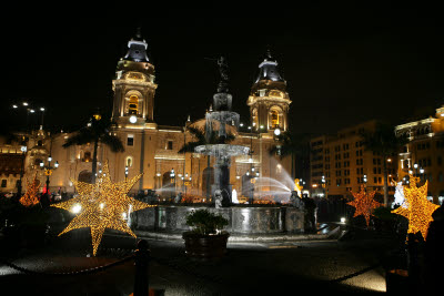
{"label": "golden-lit cathedral with twin bell towers behind the fountain", "polygon": [[[100,165],[108,160],[111,178],[114,181],[124,180],[125,172],[128,177],[143,173],[142,178],[133,187],[134,192],[158,190],[159,194],[169,197],[176,191],[182,191],[205,196],[209,182],[206,175],[213,177],[212,167],[206,167],[206,156],[178,153],[184,143],[194,141],[185,126],[202,127],[204,116],[194,122],[189,120],[182,126],[164,126],[155,123],[153,109],[158,84],[154,65],[147,54],[148,51],[148,43],[138,33],[128,42],[128,52],[118,62],[115,79],[112,81],[114,92],[112,119],[118,125],[111,132],[123,142],[124,152],[113,153],[107,146],[99,144],[98,169],[100,170]],[[238,194],[246,187],[245,182],[251,182],[252,175],[279,178],[281,174],[286,174],[291,166],[290,160],[276,163],[275,156],[269,154],[269,150],[275,144],[273,131],[276,127],[287,129],[290,105],[285,91],[286,82],[279,74],[276,64],[270,55],[260,64],[259,78],[248,99],[255,127],[248,129],[251,125],[250,119],[241,119],[240,131],[233,129],[234,126],[226,127],[236,136],[232,144],[246,145],[253,151],[251,155],[238,156],[231,162],[230,183]],[[209,94],[209,98],[211,95]],[[259,130],[260,125],[264,127]],[[47,136],[43,141],[42,149],[47,154],[51,154],[53,161],[59,162],[59,169],[51,175],[51,191],[74,192],[70,180],[91,178],[93,144],[63,149],[62,144],[70,136],[71,134],[62,132]],[[32,164],[46,157],[43,153],[40,154],[27,162],[28,175],[37,170]],[[28,153],[27,159],[30,160],[30,155]],[[170,175],[172,170],[174,177]],[[205,173],[206,170],[210,174]],[[163,190],[160,190],[162,187]]]}

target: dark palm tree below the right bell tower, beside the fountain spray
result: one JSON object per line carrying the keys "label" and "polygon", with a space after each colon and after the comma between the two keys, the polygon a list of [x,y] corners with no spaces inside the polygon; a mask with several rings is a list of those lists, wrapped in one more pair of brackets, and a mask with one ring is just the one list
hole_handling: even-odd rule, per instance
{"label": "dark palm tree below the right bell tower, beside the fountain spray", "polygon": [[269,151],[270,155],[278,154],[281,160],[285,156],[291,156],[291,175],[293,180],[296,174],[296,156],[304,157],[309,155],[309,134],[294,134],[286,131],[276,136],[279,144],[273,145]]}

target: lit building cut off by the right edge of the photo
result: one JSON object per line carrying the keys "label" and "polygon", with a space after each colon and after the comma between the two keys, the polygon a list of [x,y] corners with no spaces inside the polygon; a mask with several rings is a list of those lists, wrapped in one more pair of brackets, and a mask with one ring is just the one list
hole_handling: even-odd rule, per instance
{"label": "lit building cut off by the right edge of the photo", "polygon": [[444,105],[435,116],[408,122],[395,127],[396,135],[406,135],[408,144],[398,156],[400,180],[408,177],[408,171],[428,181],[428,198],[444,202]]}

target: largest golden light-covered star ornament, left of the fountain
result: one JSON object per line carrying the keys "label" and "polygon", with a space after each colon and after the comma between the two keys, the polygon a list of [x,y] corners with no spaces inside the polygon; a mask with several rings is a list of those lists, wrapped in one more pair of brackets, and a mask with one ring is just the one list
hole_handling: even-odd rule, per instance
{"label": "largest golden light-covered star ornament, left of the fountain", "polygon": [[71,180],[79,196],[52,206],[70,211],[77,216],[59,236],[72,229],[90,227],[94,256],[105,228],[124,232],[135,237],[128,226],[127,217],[131,212],[153,206],[127,195],[141,176],[142,174],[139,174],[127,181],[112,183],[107,162],[95,184]]}

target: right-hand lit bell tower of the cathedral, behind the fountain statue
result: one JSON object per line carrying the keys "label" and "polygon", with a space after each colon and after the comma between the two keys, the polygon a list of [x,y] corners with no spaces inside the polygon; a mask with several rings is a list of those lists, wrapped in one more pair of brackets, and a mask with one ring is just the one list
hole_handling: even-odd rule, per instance
{"label": "right-hand lit bell tower of the cathedral, behind the fountain statue", "polygon": [[289,129],[289,109],[291,100],[286,92],[286,81],[278,71],[278,62],[268,50],[259,64],[259,75],[251,88],[246,102],[253,130],[268,132],[275,129]]}

